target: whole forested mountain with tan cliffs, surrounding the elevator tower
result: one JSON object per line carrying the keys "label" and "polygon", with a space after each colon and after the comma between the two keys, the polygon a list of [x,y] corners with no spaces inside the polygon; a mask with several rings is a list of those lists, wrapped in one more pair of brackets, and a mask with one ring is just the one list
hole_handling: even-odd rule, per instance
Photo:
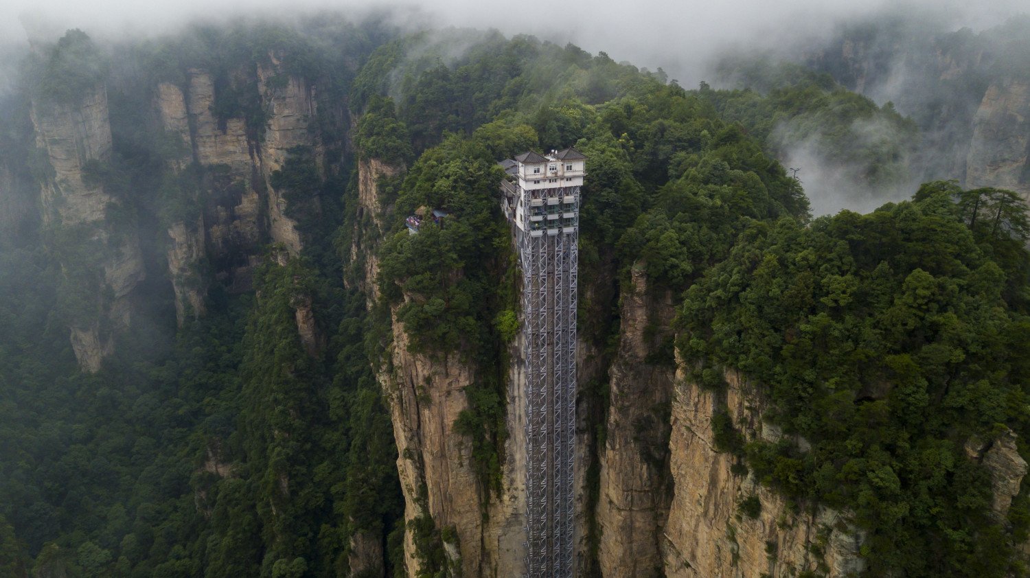
{"label": "whole forested mountain with tan cliffs, surrounding the elevator tower", "polygon": [[33,39],[0,102],[0,575],[519,574],[496,163],[566,146],[579,575],[1025,574],[1027,206],[917,184],[929,125],[809,65],[687,90],[328,13]]}

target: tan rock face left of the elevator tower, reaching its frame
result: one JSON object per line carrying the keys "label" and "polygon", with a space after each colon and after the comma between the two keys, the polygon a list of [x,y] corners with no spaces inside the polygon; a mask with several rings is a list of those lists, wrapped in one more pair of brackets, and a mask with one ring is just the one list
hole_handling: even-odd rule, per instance
{"label": "tan rock face left of the elevator tower, reaching its frame", "polygon": [[[377,181],[401,170],[377,159],[358,162],[358,214],[351,258],[359,266],[356,282],[370,303],[379,298],[375,247],[384,225]],[[509,366],[503,487],[487,500],[472,463],[472,440],[454,429],[458,414],[469,407],[465,388],[476,379],[474,368],[457,355],[437,359],[412,353],[404,327],[396,318],[392,332],[391,370],[380,372],[378,378],[390,402],[405,519],[432,516],[444,531],[448,558],[462,576],[518,575],[525,564],[525,444],[520,427],[524,379],[519,364]],[[516,360],[520,354],[516,341],[510,355]],[[420,563],[411,531],[405,538],[405,564],[408,575],[415,576]]]}

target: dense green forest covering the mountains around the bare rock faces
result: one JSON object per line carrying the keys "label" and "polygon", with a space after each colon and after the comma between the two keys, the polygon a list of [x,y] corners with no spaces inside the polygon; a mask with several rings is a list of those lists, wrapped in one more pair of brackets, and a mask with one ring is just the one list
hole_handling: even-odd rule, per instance
{"label": "dense green forest covering the mountains around the bare rock faces", "polygon": [[[273,54],[346,108],[319,112],[322,158],[291,150],[272,177],[304,249],[288,256],[264,239],[245,292],[219,280],[226,264],[207,263],[197,272],[207,312],[177,328],[158,224],[199,214],[220,181],[217,168],[168,169],[175,143],[147,130],[154,86],[212,71],[213,112],[244,118],[261,141],[268,110],[237,71]],[[473,440],[479,482],[500,492],[518,286],[496,162],[570,145],[590,175],[584,340],[611,354],[622,285],[642,268],[652,291],[682,302],[675,346],[695,377],[719,388],[722,369],[740,370],[771,401],[770,419],[812,444],[744,444],[723,431],[724,449],[798,504],[853,511],[870,535],[870,575],[1022,572],[1014,543],[1030,532],[1030,498],[1022,492],[1007,520],[991,517],[989,475],[963,444],[1006,428],[1030,436],[1025,206],[1007,192],[934,182],[870,214],[812,219],[801,183],[776,161],[788,142],[819,139],[830,162],[859,167],[849,178],[874,189],[908,178],[917,131],[827,76],[763,74],[753,91],[687,90],[572,44],[402,36],[337,18],[117,46],[75,31],[34,55],[24,91],[4,103],[15,112],[3,117],[0,155],[39,156],[25,116],[39,95],[66,102],[106,83],[114,154],[95,176],[131,212],[112,230],[143,232],[148,280],[145,315],[100,372],[82,373],[67,332],[82,308],[61,266],[68,232],[29,219],[0,238],[0,573],[347,576],[350,539],[366,533],[400,576],[408,530],[418,575],[450,575],[446,529],[403,521],[374,373],[388,364],[390,308],[412,350],[478,368],[457,428]],[[887,136],[855,146],[857,121]],[[368,159],[406,168],[379,182],[387,210],[374,231],[381,299],[371,307],[353,282],[368,256],[350,254],[355,228],[371,229],[355,210],[354,166]],[[20,178],[23,195],[38,189],[38,174]],[[404,218],[424,207],[447,209],[446,226],[409,235]],[[314,352],[298,334],[302,305],[323,337]],[[658,363],[674,363],[667,345]],[[588,384],[579,403],[603,437],[606,385]],[[592,463],[588,508],[598,499]]]}

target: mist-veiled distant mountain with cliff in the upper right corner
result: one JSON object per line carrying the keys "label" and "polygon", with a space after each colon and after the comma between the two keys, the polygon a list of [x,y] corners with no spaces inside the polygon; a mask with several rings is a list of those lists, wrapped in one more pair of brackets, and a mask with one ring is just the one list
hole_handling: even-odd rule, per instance
{"label": "mist-veiled distant mountain with cliff in the upper right corner", "polygon": [[[1002,27],[1003,28],[1003,27]],[[817,68],[878,103],[893,102],[922,130],[923,180],[1008,189],[1030,200],[1030,82],[1009,32],[934,32],[897,22],[846,31],[809,56]]]}

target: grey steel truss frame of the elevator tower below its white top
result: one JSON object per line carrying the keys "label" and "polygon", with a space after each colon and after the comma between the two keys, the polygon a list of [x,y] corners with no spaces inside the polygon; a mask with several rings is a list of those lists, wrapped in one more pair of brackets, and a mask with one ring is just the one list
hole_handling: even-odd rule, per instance
{"label": "grey steel truss frame of the elevator tower below its white top", "polygon": [[[534,191],[575,198],[570,233],[518,232],[526,376],[526,570],[530,578],[572,578],[576,450],[576,311],[579,186]],[[528,192],[520,192],[528,212]],[[528,229],[528,228],[527,228]]]}

